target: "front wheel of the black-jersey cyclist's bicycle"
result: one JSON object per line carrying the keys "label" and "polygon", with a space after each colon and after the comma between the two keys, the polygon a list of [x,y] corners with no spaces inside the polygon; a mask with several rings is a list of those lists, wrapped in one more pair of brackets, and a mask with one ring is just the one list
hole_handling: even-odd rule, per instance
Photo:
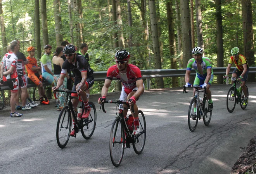
{"label": "front wheel of the black-jersey cyclist's bicycle", "polygon": [[60,148],[64,148],[67,145],[71,132],[71,112],[67,106],[65,106],[59,115],[56,129],[57,143]]}

